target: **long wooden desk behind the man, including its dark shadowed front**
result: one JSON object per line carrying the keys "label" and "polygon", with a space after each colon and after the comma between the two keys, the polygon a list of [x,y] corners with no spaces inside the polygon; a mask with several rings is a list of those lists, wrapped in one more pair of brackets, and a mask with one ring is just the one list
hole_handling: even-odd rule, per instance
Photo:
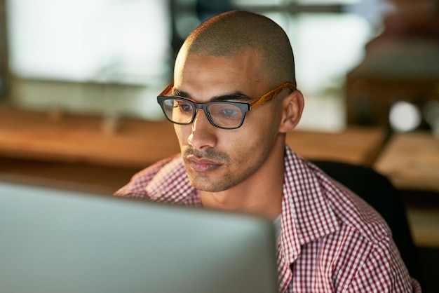
{"label": "long wooden desk behind the man, including its dark shadowed front", "polygon": [[[287,143],[305,158],[370,165],[384,144],[379,128],[297,130]],[[102,118],[0,107],[0,179],[112,193],[142,168],[180,151],[168,121],[123,119],[114,132]]]}

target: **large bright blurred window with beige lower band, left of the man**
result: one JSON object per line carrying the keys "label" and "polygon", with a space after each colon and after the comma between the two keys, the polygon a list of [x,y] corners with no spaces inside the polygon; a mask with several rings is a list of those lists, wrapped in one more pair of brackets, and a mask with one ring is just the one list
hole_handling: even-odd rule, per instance
{"label": "large bright blurred window with beige lower band, left of the man", "polygon": [[33,108],[147,115],[147,95],[170,72],[168,5],[6,0],[11,98]]}

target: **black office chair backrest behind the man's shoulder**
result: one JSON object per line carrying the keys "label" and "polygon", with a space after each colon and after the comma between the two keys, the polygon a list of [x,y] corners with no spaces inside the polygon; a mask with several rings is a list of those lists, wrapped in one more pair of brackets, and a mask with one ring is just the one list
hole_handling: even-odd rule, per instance
{"label": "black office chair backrest behind the man's shoulder", "polygon": [[313,161],[323,172],[351,189],[372,205],[386,220],[410,275],[420,283],[421,266],[417,256],[405,204],[390,180],[372,168],[335,161]]}

